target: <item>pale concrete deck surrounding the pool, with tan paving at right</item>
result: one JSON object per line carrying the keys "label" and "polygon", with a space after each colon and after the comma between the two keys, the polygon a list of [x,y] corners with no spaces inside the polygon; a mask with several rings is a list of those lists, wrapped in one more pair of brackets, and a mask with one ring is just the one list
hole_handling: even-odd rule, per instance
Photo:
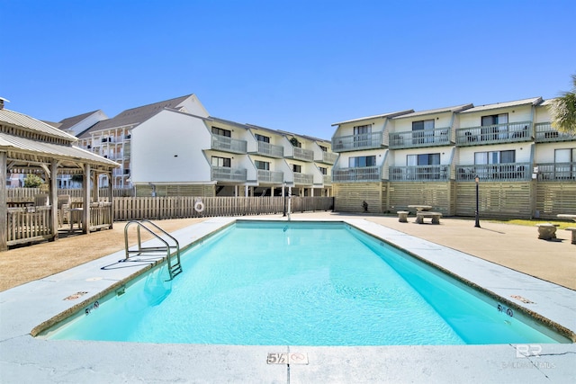
{"label": "pale concrete deck surrounding the pool, with tan paving at right", "polygon": [[[355,226],[437,263],[518,307],[576,330],[576,292],[566,288],[573,283],[570,276],[572,279],[576,276],[576,246],[570,245],[570,234],[568,240],[547,242],[536,238],[536,228],[500,228],[503,224],[498,223],[482,223],[482,229],[469,228],[469,220],[442,219],[440,226],[431,226],[398,223],[397,218],[330,213],[293,214],[292,219],[350,220]],[[230,220],[234,219],[208,219],[173,235],[181,244],[187,244]],[[558,232],[561,237],[563,231]],[[475,257],[485,258],[483,254],[487,254],[487,260]],[[547,257],[551,254],[554,257]],[[82,308],[94,301],[89,299],[94,294],[134,272],[135,267],[101,269],[123,256],[121,250],[0,292],[0,381],[533,383],[571,382],[576,377],[576,344],[308,347],[51,341],[31,337],[35,326],[73,306]],[[554,279],[539,273],[530,272],[540,278],[528,276],[490,258],[500,257],[505,265],[520,258],[522,266],[527,263],[524,260],[533,256],[548,259],[548,264],[555,258],[565,258],[566,265],[552,265],[549,272],[544,271],[544,266],[536,268],[536,272],[545,276],[554,274],[554,269],[568,270],[564,287],[548,282]],[[81,298],[64,300],[84,291],[87,293]],[[288,352],[307,353],[309,363],[289,366],[266,363],[268,353]]]}

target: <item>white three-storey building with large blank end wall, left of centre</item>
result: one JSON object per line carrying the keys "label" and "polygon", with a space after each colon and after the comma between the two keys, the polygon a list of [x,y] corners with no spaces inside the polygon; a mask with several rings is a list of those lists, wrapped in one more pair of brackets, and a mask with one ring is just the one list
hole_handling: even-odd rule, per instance
{"label": "white three-storey building with large blank end wall, left of centre", "polygon": [[210,116],[193,94],[121,112],[79,135],[140,196],[330,196],[329,140]]}

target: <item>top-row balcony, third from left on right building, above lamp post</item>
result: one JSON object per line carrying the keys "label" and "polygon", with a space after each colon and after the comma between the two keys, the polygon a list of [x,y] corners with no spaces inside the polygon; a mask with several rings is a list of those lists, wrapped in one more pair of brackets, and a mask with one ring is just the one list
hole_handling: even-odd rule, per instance
{"label": "top-row balcony, third from left on right building, above lamp post", "polygon": [[532,138],[532,121],[456,129],[456,145],[459,147],[532,141]]}

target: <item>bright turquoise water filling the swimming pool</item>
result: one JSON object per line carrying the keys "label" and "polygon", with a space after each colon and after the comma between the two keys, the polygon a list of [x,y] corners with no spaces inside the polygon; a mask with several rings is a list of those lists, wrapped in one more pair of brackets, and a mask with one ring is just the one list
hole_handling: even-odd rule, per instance
{"label": "bright turquoise water filling the swimming pool", "polygon": [[[49,332],[190,344],[568,342],[344,223],[238,221]],[[508,314],[507,314],[508,313]]]}

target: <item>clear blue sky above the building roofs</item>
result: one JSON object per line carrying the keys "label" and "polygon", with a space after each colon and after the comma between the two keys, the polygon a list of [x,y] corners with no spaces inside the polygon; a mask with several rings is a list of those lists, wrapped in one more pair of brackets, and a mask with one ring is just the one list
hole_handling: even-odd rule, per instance
{"label": "clear blue sky above the building roofs", "polygon": [[0,0],[0,96],[61,121],[196,94],[221,119],[331,138],[568,91],[574,20],[574,0]]}

